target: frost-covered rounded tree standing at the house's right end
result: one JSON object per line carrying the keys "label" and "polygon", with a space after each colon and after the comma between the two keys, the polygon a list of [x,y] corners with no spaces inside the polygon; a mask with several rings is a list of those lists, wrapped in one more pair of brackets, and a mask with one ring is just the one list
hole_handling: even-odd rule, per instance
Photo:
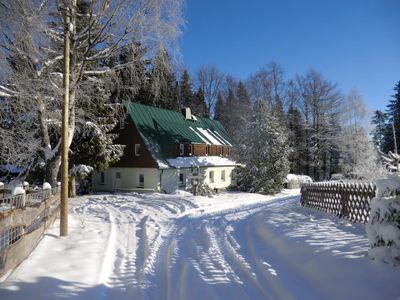
{"label": "frost-covered rounded tree standing at the house's right end", "polygon": [[235,149],[239,162],[238,188],[249,192],[276,193],[289,173],[288,136],[265,102],[257,101]]}

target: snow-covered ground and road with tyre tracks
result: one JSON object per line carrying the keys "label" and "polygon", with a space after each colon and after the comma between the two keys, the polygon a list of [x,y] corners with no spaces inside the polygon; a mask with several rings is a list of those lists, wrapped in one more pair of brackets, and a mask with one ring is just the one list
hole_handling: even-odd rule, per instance
{"label": "snow-covered ground and road with tyre tracks", "polygon": [[363,225],[299,191],[95,195],[71,201],[0,284],[0,299],[400,299],[400,267],[366,257]]}

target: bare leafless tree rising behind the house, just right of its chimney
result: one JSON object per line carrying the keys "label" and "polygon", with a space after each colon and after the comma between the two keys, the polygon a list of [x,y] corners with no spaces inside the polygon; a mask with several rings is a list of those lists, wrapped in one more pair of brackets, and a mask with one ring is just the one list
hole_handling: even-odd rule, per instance
{"label": "bare leafless tree rising behind the house, just right of its chimney", "polygon": [[213,114],[224,77],[224,74],[218,71],[214,65],[202,66],[197,71],[198,86],[204,93],[206,108],[210,115]]}

